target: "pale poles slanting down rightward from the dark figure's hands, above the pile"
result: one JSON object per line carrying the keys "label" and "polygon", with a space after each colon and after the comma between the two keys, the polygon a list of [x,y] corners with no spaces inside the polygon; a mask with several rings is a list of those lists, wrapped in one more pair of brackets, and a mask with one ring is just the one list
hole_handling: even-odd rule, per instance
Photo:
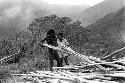
{"label": "pale poles slanting down rightward from the dark figure's hands, above the pile", "polygon": [[[93,65],[94,67],[96,67],[98,69],[101,69],[101,70],[107,70],[107,68],[104,68],[103,66],[101,66],[101,64],[105,64],[105,65],[111,66],[113,68],[125,70],[124,66],[114,64],[114,63],[111,63],[111,62],[105,62],[104,60],[100,60],[100,59],[95,58],[95,57],[87,57],[85,55],[82,55],[82,54],[79,54],[79,53],[73,51],[70,47],[59,48],[59,47],[51,46],[51,45],[48,45],[48,44],[43,44],[43,46],[46,46],[48,48],[52,48],[52,49],[55,49],[55,50],[58,50],[58,51],[61,51],[61,52],[64,52],[64,53],[68,53],[68,54],[71,54],[71,55],[75,55],[76,57],[80,58],[84,63],[87,63],[87,65],[89,65],[89,64]],[[122,51],[124,49],[125,49],[125,47],[121,48],[120,50],[117,50],[117,51],[113,52],[112,54],[109,54],[108,56],[106,56],[106,58],[111,57],[114,54],[116,54],[119,51]],[[104,58],[104,59],[106,59],[106,58]]]}

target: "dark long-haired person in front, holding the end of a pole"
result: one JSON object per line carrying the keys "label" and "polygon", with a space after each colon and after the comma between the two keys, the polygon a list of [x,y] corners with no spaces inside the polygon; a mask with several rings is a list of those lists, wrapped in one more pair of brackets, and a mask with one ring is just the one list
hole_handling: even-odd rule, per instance
{"label": "dark long-haired person in front, holding the end of a pole", "polygon": [[[55,47],[58,46],[58,44],[57,44],[57,37],[56,37],[54,29],[50,29],[47,32],[47,36],[41,42],[44,43],[45,41],[49,45],[52,45],[52,46],[55,46]],[[60,61],[60,57],[58,55],[58,51],[54,50],[54,49],[51,49],[51,48],[48,48],[48,53],[49,53],[49,60],[50,60],[50,70],[52,70],[53,60],[54,59],[57,61],[57,67],[61,67],[62,63]]]}

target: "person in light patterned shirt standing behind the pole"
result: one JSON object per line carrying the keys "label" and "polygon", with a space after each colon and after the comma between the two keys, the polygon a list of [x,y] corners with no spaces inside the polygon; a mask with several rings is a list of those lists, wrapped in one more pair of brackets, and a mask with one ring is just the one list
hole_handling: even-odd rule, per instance
{"label": "person in light patterned shirt standing behind the pole", "polygon": [[[58,47],[60,47],[60,48],[69,46],[69,43],[64,38],[63,33],[59,33],[58,34],[57,43],[58,43]],[[63,61],[65,61],[65,64],[69,65],[68,64],[68,54],[67,53],[63,53],[63,52],[58,52],[58,53],[59,53],[59,56],[61,58],[61,63],[63,63]]]}

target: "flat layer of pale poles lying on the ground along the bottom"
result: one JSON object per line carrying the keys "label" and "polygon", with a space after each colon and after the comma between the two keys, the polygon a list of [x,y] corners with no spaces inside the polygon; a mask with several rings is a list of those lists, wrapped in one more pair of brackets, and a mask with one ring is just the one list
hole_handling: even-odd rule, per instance
{"label": "flat layer of pale poles lying on the ground along the bottom", "polygon": [[[125,72],[115,72],[114,74],[100,74],[100,73],[73,73],[65,70],[52,71],[36,71],[29,74],[11,74],[12,76],[21,76],[24,80],[32,80],[37,83],[118,83],[113,81],[114,78],[118,80],[125,78]],[[52,82],[52,80],[55,80]],[[101,81],[100,81],[101,80]],[[118,81],[117,80],[117,81]],[[63,82],[62,82],[63,81]],[[123,83],[123,82],[120,82]]]}

